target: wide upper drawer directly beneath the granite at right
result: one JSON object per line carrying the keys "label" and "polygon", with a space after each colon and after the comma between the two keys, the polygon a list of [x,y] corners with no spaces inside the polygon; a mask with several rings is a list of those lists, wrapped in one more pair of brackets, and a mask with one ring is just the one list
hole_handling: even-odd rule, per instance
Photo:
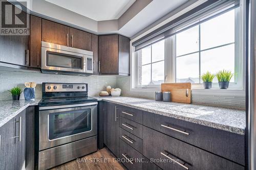
{"label": "wide upper drawer directly beneath the granite at right", "polygon": [[143,112],[143,125],[193,144],[234,162],[245,164],[245,139],[239,135],[184,120]]}

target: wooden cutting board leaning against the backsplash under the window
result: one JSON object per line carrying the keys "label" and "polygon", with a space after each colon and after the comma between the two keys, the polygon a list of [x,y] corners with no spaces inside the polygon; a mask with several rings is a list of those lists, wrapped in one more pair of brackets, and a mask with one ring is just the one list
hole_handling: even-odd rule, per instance
{"label": "wooden cutting board leaning against the backsplash under the window", "polygon": [[191,83],[162,83],[161,91],[170,91],[172,102],[191,103]]}

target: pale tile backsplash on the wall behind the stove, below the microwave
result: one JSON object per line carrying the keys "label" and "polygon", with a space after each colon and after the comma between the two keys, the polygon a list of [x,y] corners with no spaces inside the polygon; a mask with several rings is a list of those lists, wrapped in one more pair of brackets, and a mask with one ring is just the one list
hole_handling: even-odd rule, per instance
{"label": "pale tile backsplash on the wall behind the stove, below the microwave", "polygon": [[[116,76],[67,76],[42,74],[37,71],[20,71],[0,69],[0,100],[11,100],[11,93],[8,91],[14,86],[25,88],[25,82],[36,82],[35,98],[40,99],[42,93],[42,82],[56,83],[88,83],[89,95],[95,96],[99,91],[105,90],[104,84],[108,82],[111,87],[116,87]],[[20,95],[24,99],[24,95]]]}

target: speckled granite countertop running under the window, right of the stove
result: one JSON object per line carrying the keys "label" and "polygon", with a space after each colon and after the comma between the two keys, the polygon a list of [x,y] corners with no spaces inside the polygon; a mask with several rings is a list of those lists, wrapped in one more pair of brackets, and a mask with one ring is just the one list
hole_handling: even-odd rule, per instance
{"label": "speckled granite countertop running under the window, right of the stove", "polygon": [[245,134],[245,110],[174,102],[157,102],[155,100],[130,98],[124,96],[94,96],[93,98],[96,98],[98,101],[103,100],[112,102],[232,133],[241,135]]}

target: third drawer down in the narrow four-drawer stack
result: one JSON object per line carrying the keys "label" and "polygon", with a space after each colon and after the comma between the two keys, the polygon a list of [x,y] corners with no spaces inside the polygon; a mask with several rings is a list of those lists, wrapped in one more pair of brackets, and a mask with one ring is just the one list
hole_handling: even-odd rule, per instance
{"label": "third drawer down in the narrow four-drawer stack", "polygon": [[138,138],[137,136],[123,130],[122,128],[119,128],[119,138],[140,153],[143,152],[143,140]]}

